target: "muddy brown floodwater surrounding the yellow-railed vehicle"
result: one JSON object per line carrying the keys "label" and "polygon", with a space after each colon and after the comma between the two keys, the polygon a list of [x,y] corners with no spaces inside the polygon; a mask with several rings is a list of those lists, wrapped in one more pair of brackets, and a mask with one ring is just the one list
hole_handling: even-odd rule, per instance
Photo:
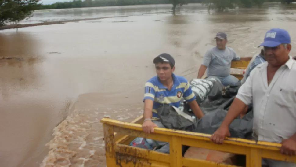
{"label": "muddy brown floodwater surrounding the yellow-railed vehicle", "polygon": [[[167,52],[188,80],[215,34],[241,57],[260,49],[265,32],[296,32],[296,6],[208,13],[200,4],[37,11],[22,24],[114,17],[0,31],[0,166],[105,167],[104,116],[132,121],[143,113],[143,86],[153,58]],[[125,16],[125,17],[124,17]]]}

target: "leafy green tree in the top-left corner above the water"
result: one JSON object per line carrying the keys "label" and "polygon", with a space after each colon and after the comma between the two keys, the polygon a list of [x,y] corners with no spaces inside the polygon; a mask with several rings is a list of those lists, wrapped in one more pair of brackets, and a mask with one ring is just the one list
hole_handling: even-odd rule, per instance
{"label": "leafy green tree in the top-left corner above the water", "polygon": [[0,26],[31,17],[32,11],[38,8],[38,2],[39,0],[0,0]]}

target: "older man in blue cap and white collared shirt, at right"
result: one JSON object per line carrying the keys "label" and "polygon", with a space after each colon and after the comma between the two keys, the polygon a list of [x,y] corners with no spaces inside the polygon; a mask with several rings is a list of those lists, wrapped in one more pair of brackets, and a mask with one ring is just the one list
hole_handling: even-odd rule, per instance
{"label": "older man in blue cap and white collared shirt, at right", "polygon": [[[296,61],[289,56],[291,38],[286,30],[274,28],[266,32],[266,62],[252,70],[240,87],[225,120],[211,136],[222,144],[229,136],[229,124],[253,103],[253,137],[258,141],[282,143],[282,154],[296,155]],[[295,167],[295,163],[262,160],[269,167]]]}

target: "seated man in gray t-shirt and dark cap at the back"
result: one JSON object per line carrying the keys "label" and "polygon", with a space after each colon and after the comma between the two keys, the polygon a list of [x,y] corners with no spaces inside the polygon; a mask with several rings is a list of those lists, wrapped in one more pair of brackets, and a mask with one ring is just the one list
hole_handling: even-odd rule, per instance
{"label": "seated man in gray t-shirt and dark cap at the back", "polygon": [[207,70],[207,77],[218,78],[224,86],[238,82],[235,76],[230,75],[231,61],[250,61],[252,57],[238,57],[232,48],[226,46],[227,35],[224,32],[218,32],[215,39],[217,46],[206,52],[197,78],[200,79]]}

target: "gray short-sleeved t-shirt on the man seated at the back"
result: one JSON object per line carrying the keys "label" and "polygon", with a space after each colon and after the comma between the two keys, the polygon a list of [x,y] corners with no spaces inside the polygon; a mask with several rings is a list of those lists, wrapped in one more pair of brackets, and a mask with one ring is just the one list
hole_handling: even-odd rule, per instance
{"label": "gray short-sleeved t-shirt on the man seated at the back", "polygon": [[207,66],[207,76],[229,76],[232,60],[240,60],[232,48],[226,46],[225,50],[213,47],[204,56],[203,65]]}

